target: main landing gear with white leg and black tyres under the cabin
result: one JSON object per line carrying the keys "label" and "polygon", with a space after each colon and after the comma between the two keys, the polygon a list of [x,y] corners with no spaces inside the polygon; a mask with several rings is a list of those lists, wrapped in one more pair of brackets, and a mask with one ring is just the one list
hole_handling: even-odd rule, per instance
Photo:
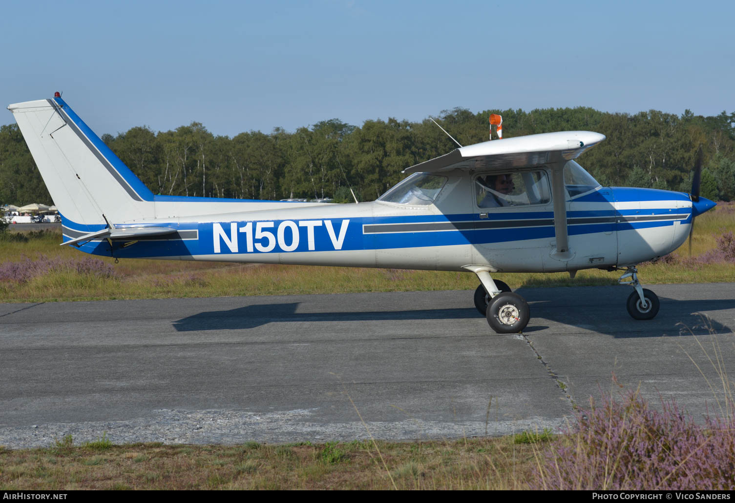
{"label": "main landing gear with white leg and black tyres under the cabin", "polygon": [[512,293],[503,281],[493,281],[488,269],[473,267],[470,270],[481,281],[475,291],[475,307],[484,314],[490,328],[496,333],[518,333],[526,328],[531,318],[526,300]]}

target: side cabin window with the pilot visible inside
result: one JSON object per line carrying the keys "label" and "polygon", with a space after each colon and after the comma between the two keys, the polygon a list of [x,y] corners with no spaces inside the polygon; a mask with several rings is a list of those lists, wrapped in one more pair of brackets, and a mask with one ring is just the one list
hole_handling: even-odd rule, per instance
{"label": "side cabin window with the pilot visible inside", "polygon": [[545,171],[481,174],[475,178],[474,186],[479,208],[528,206],[551,201]]}

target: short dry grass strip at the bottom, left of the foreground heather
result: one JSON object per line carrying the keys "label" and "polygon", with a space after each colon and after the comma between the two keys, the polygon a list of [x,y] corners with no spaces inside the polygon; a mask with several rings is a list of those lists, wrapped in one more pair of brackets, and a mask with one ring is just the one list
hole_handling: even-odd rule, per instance
{"label": "short dry grass strip at the bottom, left of the foreground heather", "polygon": [[[525,489],[534,446],[461,441],[70,446],[0,451],[0,490]],[[537,450],[537,447],[536,447]],[[392,482],[393,481],[393,482]]]}

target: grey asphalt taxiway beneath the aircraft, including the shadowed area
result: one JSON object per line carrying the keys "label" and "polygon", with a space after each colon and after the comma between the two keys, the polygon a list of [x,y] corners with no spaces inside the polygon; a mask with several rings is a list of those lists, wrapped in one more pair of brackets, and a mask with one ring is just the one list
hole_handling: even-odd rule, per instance
{"label": "grey asphalt taxiway beneath the aircraft, including the shadowed area", "polygon": [[473,292],[0,304],[0,445],[504,435],[637,388],[717,413],[735,283],[650,288],[649,321],[627,286],[520,289],[503,336]]}

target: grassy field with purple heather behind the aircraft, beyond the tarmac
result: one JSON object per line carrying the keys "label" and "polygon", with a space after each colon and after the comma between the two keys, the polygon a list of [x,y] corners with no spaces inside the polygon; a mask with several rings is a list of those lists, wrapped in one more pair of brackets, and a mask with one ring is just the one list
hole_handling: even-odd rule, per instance
{"label": "grassy field with purple heather behind the aircraft, beyond the tarmac", "polygon": [[[698,217],[691,256],[685,244],[666,261],[642,264],[641,281],[647,285],[735,281],[735,242],[723,242],[722,237],[734,229],[735,204],[720,203]],[[0,302],[464,290],[478,285],[469,272],[143,259],[114,264],[112,258],[59,246],[59,232],[29,233],[26,241],[12,236],[0,239]],[[494,275],[512,289],[612,285],[619,277],[620,272],[598,269],[580,271],[574,279],[562,272]]]}

